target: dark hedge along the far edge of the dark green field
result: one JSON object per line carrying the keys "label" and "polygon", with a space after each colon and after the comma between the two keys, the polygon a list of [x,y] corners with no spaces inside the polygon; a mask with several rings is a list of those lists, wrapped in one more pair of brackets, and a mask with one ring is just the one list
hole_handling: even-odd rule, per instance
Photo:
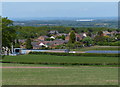
{"label": "dark hedge along the far edge of the dark green field", "polygon": [[30,52],[29,54],[36,55],[56,55],[56,56],[89,56],[89,57],[119,57],[119,54],[108,53],[55,53],[55,52]]}

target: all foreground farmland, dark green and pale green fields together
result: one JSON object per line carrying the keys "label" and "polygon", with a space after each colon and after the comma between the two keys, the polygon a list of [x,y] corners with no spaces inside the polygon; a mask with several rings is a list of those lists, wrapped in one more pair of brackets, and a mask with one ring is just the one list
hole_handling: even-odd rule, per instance
{"label": "all foreground farmland, dark green and pale green fields together", "polygon": [[[5,56],[3,85],[118,85],[118,57]],[[77,64],[77,65],[76,65]],[[52,68],[54,67],[54,68]]]}

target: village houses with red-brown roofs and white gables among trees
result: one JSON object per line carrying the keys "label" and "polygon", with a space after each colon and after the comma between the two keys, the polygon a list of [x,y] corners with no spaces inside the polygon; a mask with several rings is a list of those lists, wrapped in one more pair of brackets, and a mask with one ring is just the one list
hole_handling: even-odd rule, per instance
{"label": "village houses with red-brown roofs and white gables among trees", "polygon": [[[57,31],[51,31],[51,34],[54,34],[53,36],[40,36],[37,39],[33,39],[32,40],[32,46],[33,49],[40,49],[41,47],[50,47],[50,48],[54,48],[55,46],[58,45],[62,45],[62,44],[66,44],[68,43],[69,39],[70,39],[70,33],[69,34],[65,34],[65,33],[58,33]],[[116,31],[112,31],[112,32],[108,32],[108,31],[103,31],[103,36],[112,36],[113,34],[118,33]],[[77,34],[75,33],[76,36],[76,41],[80,41],[82,39],[84,39],[85,37],[87,37],[87,32],[86,33],[81,33],[81,34]],[[57,36],[65,36],[65,40],[62,39],[56,39]],[[91,38],[94,38],[96,35],[92,34]],[[47,41],[46,39],[50,38],[53,40]],[[26,40],[19,40],[19,42],[24,43]],[[24,44],[21,45],[21,48],[25,48]]]}

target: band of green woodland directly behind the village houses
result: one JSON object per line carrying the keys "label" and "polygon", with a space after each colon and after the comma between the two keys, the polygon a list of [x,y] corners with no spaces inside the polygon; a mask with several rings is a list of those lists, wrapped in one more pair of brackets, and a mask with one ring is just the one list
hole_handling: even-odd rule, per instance
{"label": "band of green woodland directly behind the village houses", "polygon": [[[41,27],[33,27],[33,26],[17,26],[17,37],[19,39],[25,38],[36,38],[41,35],[48,35],[51,30],[57,30],[59,33],[68,34],[73,27],[65,27],[65,26],[41,26]],[[75,32],[83,33],[83,32],[91,32],[96,34],[98,31],[114,31],[118,29],[113,28],[105,28],[105,27],[76,27],[74,28]]]}

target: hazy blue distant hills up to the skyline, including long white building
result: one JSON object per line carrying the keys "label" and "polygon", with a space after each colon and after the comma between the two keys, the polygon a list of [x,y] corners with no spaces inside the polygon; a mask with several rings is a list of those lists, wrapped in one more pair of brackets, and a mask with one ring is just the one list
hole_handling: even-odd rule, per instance
{"label": "hazy blue distant hills up to the skyline, including long white building", "polygon": [[69,27],[108,27],[118,28],[117,17],[43,17],[43,18],[18,18],[14,25],[20,26],[69,26]]}

